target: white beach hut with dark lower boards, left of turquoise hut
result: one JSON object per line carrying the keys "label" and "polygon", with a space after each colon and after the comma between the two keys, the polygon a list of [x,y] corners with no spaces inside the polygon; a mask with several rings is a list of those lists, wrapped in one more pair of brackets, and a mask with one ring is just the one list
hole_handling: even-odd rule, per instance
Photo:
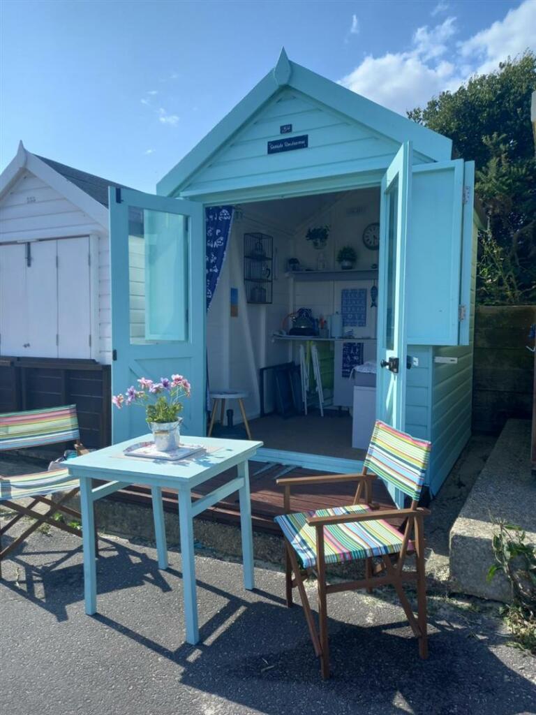
{"label": "white beach hut with dark lower boards, left of turquoise hut", "polygon": [[73,402],[110,439],[108,187],[27,151],[0,175],[0,411]]}

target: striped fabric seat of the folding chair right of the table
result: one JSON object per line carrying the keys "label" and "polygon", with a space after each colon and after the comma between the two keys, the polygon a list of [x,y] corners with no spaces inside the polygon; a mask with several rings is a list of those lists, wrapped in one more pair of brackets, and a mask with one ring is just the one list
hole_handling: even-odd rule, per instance
{"label": "striped fabric seat of the folding chair right of the table", "polygon": [[[369,509],[362,504],[337,506],[318,511],[284,514],[277,516],[275,521],[296,551],[302,566],[309,568],[317,562],[317,534],[316,528],[307,523],[307,517],[354,514],[362,511]],[[325,560],[326,563],[342,563],[367,556],[397,553],[402,548],[402,538],[402,534],[383,519],[324,526]]]}

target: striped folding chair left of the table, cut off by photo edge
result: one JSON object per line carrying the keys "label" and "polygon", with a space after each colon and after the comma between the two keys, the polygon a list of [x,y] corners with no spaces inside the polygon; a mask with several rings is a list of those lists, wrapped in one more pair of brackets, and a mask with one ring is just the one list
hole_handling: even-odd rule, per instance
{"label": "striped folding chair left of the table, cut off by photo edge", "polygon": [[[80,443],[76,405],[0,415],[0,451],[42,447],[43,445],[61,442],[69,443],[71,441],[74,441],[74,447],[78,454],[86,451]],[[62,531],[68,531],[80,536],[79,529],[62,521],[54,521],[54,516],[58,512],[67,514],[71,517],[71,520],[76,518],[81,521],[80,513],[64,504],[78,491],[79,481],[69,478],[66,468],[36,474],[11,477],[0,476],[0,503],[2,506],[7,506],[16,512],[16,516],[0,528],[0,578],[2,559],[19,546],[31,533],[36,531],[41,524],[47,523]],[[65,493],[59,499],[53,501],[51,495],[56,492]],[[17,501],[28,497],[31,498],[31,502],[26,506]],[[38,504],[47,506],[44,513],[35,511]],[[2,549],[2,536],[23,516],[31,516],[36,521],[17,536],[9,546]]]}

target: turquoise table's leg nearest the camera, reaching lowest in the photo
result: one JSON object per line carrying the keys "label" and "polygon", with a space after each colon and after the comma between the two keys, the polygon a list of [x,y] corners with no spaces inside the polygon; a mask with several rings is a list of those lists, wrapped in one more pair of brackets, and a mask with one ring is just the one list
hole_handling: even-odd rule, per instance
{"label": "turquoise table's leg nearest the camera, reaching lowest in the photo", "polygon": [[195,590],[194,522],[192,518],[192,495],[189,489],[179,490],[179,528],[181,533],[186,639],[189,644],[194,646],[199,641],[199,626],[197,624]]}

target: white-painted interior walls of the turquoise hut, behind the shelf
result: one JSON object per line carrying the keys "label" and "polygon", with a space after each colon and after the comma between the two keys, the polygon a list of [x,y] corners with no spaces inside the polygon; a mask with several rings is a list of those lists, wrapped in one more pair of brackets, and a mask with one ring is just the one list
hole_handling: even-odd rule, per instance
{"label": "white-painted interior walls of the turquoise hut, behind the shelf", "polygon": [[[310,201],[311,197],[309,197]],[[317,205],[317,209],[314,210]],[[377,263],[377,251],[371,251],[362,243],[364,228],[379,221],[378,189],[363,189],[337,194],[326,194],[313,202],[312,213],[296,230],[289,212],[288,227],[283,228],[282,214],[277,214],[279,226],[255,212],[253,204],[244,204],[244,211],[235,213],[227,255],[219,278],[217,290],[207,315],[207,359],[209,385],[212,390],[247,390],[245,400],[247,415],[259,415],[259,368],[292,360],[292,345],[281,340],[272,340],[272,334],[281,330],[282,321],[289,312],[298,307],[311,307],[315,317],[330,315],[340,310],[341,291],[344,287],[355,287],[351,280],[343,282],[299,282],[285,275],[287,261],[296,257],[304,267],[316,269],[319,251],[305,240],[309,226],[327,223],[331,232],[324,258],[329,270],[339,270],[337,252],[344,245],[352,245],[357,252],[359,270],[370,270]],[[246,302],[244,292],[244,233],[263,232],[274,238],[274,282],[273,302],[270,305],[253,305]],[[363,282],[363,287],[372,287],[372,282]],[[230,291],[237,288],[239,296],[238,315],[230,315]],[[375,335],[375,310],[369,310],[367,328],[363,337]],[[289,327],[288,322],[285,325]],[[371,348],[375,354],[375,345]],[[370,352],[370,351],[369,351]],[[271,392],[266,395],[269,410]],[[237,405],[234,408],[235,421],[239,422]]]}

